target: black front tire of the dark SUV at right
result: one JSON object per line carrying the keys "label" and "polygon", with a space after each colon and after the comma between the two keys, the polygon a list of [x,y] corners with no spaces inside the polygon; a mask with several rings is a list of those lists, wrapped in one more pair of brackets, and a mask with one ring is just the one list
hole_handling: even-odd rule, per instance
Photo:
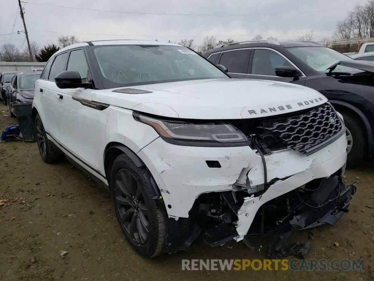
{"label": "black front tire of the dark SUV at right", "polygon": [[[347,168],[354,168],[367,156],[367,137],[358,118],[342,112],[344,123],[352,136],[352,148],[347,155]],[[348,134],[348,132],[347,132]]]}

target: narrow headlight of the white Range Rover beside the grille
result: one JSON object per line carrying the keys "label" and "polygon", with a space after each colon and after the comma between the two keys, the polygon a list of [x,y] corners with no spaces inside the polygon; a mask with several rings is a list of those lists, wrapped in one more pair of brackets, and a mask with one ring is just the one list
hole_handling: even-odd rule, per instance
{"label": "narrow headlight of the white Range Rover beside the grille", "polygon": [[197,143],[200,143],[201,146],[241,146],[246,145],[248,141],[242,132],[230,124],[197,124],[160,120],[136,113],[133,115],[135,120],[152,126],[161,138],[174,144],[197,146]]}

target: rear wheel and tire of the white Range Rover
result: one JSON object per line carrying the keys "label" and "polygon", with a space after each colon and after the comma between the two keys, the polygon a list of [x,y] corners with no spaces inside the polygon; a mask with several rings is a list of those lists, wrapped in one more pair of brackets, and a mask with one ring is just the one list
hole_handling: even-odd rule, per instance
{"label": "rear wheel and tire of the white Range Rover", "polygon": [[61,161],[64,154],[56,145],[47,138],[47,134],[44,130],[42,119],[39,114],[36,115],[34,121],[34,132],[36,136],[36,142],[38,144],[38,149],[40,156],[43,161],[48,164],[56,163]]}

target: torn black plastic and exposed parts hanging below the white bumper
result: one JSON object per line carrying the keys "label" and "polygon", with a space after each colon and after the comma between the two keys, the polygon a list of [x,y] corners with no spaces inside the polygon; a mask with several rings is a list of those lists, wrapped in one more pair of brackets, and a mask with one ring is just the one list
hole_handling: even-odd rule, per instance
{"label": "torn black plastic and exposed parts hanging below the white bumper", "polygon": [[341,175],[342,169],[328,178],[314,179],[264,203],[254,215],[245,235],[239,235],[240,224],[249,219],[251,205],[261,195],[249,196],[245,191],[201,194],[189,218],[169,220],[166,248],[169,253],[188,250],[201,232],[204,241],[211,247],[234,239],[243,240],[249,248],[253,248],[248,241],[250,236],[278,235],[278,241],[270,248],[272,258],[304,254],[308,245],[285,248],[296,231],[322,224],[333,225],[348,212],[356,185],[344,184]]}

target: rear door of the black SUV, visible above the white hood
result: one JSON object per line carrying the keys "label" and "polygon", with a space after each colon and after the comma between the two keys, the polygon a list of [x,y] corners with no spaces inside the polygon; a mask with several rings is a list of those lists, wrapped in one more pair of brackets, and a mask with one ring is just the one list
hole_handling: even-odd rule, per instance
{"label": "rear door of the black SUV, visible above the white hood", "polygon": [[248,64],[251,56],[251,49],[234,49],[222,52],[219,62],[228,70],[232,78],[248,78]]}

